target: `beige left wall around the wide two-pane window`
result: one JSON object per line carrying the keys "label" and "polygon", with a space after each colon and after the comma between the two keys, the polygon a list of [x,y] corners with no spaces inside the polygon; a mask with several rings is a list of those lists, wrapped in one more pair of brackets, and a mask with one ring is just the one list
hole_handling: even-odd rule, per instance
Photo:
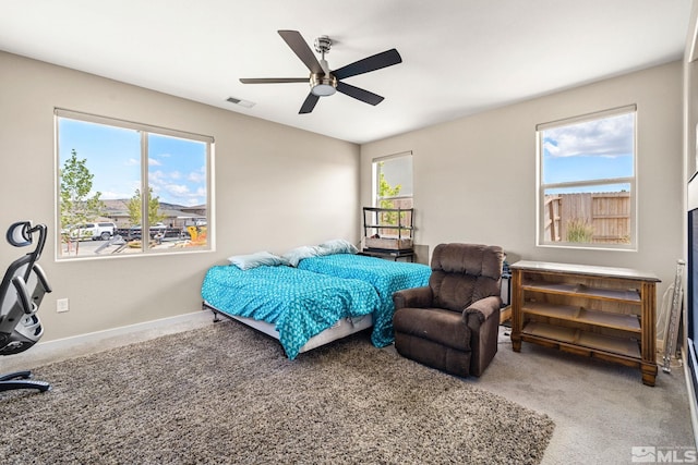
{"label": "beige left wall around the wide two-pane window", "polygon": [[[217,249],[56,262],[55,107],[214,136]],[[43,341],[195,311],[206,269],[232,254],[359,240],[354,144],[4,52],[0,109],[0,232],[24,219],[50,229]],[[0,240],[3,267],[25,252]]]}

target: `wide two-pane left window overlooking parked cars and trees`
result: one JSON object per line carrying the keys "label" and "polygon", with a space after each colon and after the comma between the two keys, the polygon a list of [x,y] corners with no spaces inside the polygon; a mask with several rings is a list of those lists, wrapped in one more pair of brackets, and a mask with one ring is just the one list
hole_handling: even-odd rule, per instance
{"label": "wide two-pane left window overlooking parked cars and trees", "polygon": [[58,258],[212,248],[213,137],[56,110]]}

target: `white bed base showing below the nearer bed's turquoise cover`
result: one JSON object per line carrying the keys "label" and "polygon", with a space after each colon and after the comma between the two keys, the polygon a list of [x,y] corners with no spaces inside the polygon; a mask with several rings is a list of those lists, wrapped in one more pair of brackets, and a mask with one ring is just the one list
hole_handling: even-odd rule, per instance
{"label": "white bed base showing below the nearer bed's turquoise cover", "polygon": [[[240,317],[237,315],[229,315],[216,307],[214,307],[213,305],[210,305],[207,302],[203,302],[202,303],[202,309],[209,309],[210,311],[213,311],[214,314],[214,322],[218,322],[221,321],[220,318],[218,318],[219,315],[222,315],[224,317],[231,319],[231,320],[237,320],[243,325],[246,325],[251,328],[254,328],[255,330],[265,333],[266,335],[276,339],[277,341],[279,340],[279,333],[276,330],[276,328],[274,327],[273,323],[268,323],[266,321],[262,321],[262,320],[255,320],[252,318],[248,318],[248,317]],[[330,343],[333,341],[336,341],[338,339],[341,338],[346,338],[350,334],[357,333],[359,331],[363,331],[364,329],[371,328],[373,326],[373,316],[372,315],[364,315],[364,316],[360,316],[360,317],[346,317],[342,318],[340,320],[338,320],[335,325],[333,325],[330,328],[327,328],[325,331],[321,332],[320,334],[315,334],[314,336],[312,336],[306,343],[305,345],[303,345],[301,347],[301,350],[299,351],[299,353],[303,353],[303,352],[308,352],[311,351],[315,347],[320,347],[321,345],[325,345],[327,343]]]}

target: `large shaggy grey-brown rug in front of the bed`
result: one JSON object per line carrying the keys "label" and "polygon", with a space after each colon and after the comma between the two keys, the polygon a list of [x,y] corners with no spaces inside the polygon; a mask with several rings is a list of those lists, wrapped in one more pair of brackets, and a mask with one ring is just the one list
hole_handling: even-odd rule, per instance
{"label": "large shaggy grey-brown rug in front of the bed", "polygon": [[291,362],[212,325],[34,370],[0,393],[3,463],[540,463],[545,415],[380,351],[366,333]]}

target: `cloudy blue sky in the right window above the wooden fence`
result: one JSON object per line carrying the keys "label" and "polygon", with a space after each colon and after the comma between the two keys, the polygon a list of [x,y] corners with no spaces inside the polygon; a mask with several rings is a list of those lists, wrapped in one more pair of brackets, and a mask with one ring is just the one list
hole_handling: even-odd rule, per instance
{"label": "cloudy blue sky in the right window above the wooden fence", "polygon": [[[542,135],[543,183],[633,176],[634,126],[635,113],[624,113],[545,130]],[[627,189],[628,185],[604,186],[604,191],[611,188]],[[581,189],[577,187],[575,192]]]}

